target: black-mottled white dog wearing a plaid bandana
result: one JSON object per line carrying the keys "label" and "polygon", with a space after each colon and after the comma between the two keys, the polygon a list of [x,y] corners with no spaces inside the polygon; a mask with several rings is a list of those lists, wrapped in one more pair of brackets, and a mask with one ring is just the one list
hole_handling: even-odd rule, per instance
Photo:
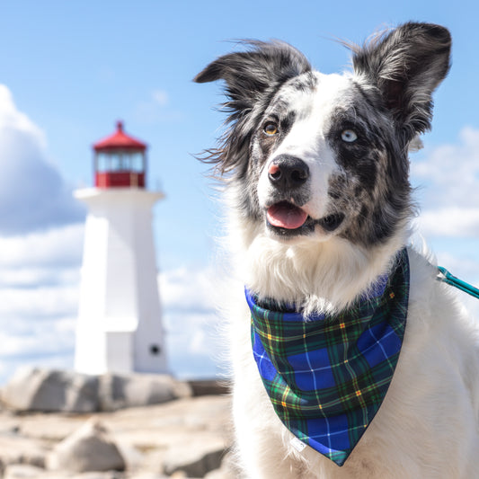
{"label": "black-mottled white dog wearing a plaid bandana", "polygon": [[241,283],[225,309],[244,477],[479,477],[478,328],[408,245],[408,151],[450,46],[409,22],[324,75],[251,41],[195,78],[226,85],[228,128],[202,159]]}

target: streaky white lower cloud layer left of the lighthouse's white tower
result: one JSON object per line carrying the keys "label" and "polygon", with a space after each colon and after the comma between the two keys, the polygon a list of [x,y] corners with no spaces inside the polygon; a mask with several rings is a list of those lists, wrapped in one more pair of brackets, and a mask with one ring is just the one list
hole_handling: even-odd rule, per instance
{"label": "streaky white lower cloud layer left of the lighthouse's white tower", "polygon": [[73,367],[83,225],[0,237],[0,382],[25,364]]}

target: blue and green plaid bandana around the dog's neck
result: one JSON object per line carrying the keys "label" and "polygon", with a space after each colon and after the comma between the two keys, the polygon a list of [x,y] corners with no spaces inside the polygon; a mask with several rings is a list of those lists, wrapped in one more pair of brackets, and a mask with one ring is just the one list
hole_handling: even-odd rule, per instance
{"label": "blue and green plaid bandana around the dog's neck", "polygon": [[409,262],[338,315],[305,317],[259,302],[252,313],[253,356],[279,419],[297,439],[342,466],[383,402],[404,337]]}

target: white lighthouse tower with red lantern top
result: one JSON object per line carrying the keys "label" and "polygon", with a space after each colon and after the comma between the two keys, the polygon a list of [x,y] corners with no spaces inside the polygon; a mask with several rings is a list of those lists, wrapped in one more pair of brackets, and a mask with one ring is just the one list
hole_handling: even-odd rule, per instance
{"label": "white lighthouse tower with red lantern top", "polygon": [[86,374],[167,372],[156,281],[146,144],[117,131],[93,145],[76,327],[75,369]]}

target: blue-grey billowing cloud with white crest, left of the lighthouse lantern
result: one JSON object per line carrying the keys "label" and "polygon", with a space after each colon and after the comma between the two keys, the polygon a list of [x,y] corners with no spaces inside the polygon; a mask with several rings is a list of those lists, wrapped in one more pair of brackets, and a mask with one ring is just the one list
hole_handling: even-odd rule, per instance
{"label": "blue-grey billowing cloud with white crest, left of the lighthouse lantern", "polygon": [[84,208],[46,155],[41,130],[0,85],[0,235],[81,221]]}

